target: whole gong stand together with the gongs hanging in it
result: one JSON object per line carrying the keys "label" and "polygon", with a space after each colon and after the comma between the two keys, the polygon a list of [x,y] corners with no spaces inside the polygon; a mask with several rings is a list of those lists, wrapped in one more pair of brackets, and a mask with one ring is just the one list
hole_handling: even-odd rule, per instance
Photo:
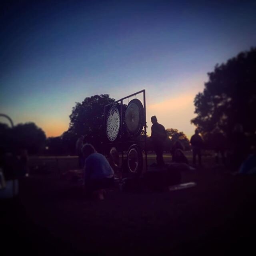
{"label": "whole gong stand together with the gongs hanging in it", "polygon": [[[143,104],[137,98],[129,101],[127,106],[123,104],[124,100],[138,94],[143,94]],[[143,128],[143,137],[138,140]],[[142,150],[145,152],[147,170],[145,90],[135,92],[104,106],[104,130],[106,134],[105,154],[109,153],[112,147],[116,147],[119,152],[122,152],[122,172],[124,172],[124,168],[127,168],[133,176],[138,177],[142,173]],[[127,164],[124,166],[124,151],[127,150]]]}

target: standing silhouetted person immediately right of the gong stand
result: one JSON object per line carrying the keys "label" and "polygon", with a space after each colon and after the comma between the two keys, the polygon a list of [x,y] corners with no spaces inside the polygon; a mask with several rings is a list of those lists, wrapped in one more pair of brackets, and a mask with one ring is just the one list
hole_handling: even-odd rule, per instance
{"label": "standing silhouetted person immediately right of the gong stand", "polygon": [[164,142],[167,139],[167,134],[164,126],[158,124],[156,116],[151,117],[151,139],[154,150],[156,152],[156,162],[158,166],[164,166]]}

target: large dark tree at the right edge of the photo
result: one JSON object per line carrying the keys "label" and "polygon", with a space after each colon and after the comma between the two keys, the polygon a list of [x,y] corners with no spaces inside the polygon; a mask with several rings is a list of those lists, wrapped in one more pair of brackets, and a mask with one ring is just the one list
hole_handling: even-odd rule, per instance
{"label": "large dark tree at the right edge of the photo", "polygon": [[196,118],[191,122],[204,133],[219,128],[229,136],[236,123],[244,131],[256,130],[256,48],[242,52],[208,73],[209,81],[194,99]]}

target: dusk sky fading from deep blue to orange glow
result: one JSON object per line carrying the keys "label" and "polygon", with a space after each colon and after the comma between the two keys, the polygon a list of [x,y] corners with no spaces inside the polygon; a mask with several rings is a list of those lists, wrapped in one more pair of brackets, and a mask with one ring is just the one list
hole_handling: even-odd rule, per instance
{"label": "dusk sky fading from deep blue to orange glow", "polygon": [[148,126],[156,115],[190,138],[207,73],[256,46],[256,1],[8,1],[1,9],[0,113],[47,136],[68,129],[75,102],[145,89]]}

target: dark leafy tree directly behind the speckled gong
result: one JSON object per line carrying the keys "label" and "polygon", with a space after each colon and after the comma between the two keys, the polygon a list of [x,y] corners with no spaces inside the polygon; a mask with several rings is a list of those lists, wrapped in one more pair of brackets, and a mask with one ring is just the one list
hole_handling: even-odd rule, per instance
{"label": "dark leafy tree directly behind the speckled gong", "polygon": [[85,136],[85,142],[100,151],[105,136],[104,106],[114,101],[108,94],[101,94],[87,97],[82,103],[76,102],[69,116],[69,129],[62,135],[69,152],[74,154],[76,140],[81,135]]}

